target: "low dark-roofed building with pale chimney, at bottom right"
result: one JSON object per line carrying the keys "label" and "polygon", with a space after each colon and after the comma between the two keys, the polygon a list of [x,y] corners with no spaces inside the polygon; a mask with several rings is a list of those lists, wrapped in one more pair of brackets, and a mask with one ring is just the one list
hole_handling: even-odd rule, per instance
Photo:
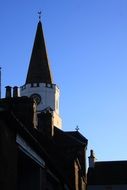
{"label": "low dark-roofed building with pale chimney, at bottom right", "polygon": [[89,157],[87,190],[127,189],[127,161],[96,161],[93,151]]}

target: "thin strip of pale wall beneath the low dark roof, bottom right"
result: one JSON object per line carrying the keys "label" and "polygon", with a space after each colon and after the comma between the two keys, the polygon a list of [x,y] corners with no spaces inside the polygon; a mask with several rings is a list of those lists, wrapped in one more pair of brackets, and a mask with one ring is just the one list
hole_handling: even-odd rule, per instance
{"label": "thin strip of pale wall beneath the low dark roof, bottom right", "polygon": [[87,190],[127,190],[127,185],[88,185]]}

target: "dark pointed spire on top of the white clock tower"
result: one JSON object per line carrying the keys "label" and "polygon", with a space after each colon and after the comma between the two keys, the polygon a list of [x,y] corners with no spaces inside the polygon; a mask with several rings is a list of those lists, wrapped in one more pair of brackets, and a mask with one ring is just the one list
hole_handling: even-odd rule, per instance
{"label": "dark pointed spire on top of the white clock tower", "polygon": [[38,22],[34,46],[26,78],[28,83],[52,84],[41,21]]}

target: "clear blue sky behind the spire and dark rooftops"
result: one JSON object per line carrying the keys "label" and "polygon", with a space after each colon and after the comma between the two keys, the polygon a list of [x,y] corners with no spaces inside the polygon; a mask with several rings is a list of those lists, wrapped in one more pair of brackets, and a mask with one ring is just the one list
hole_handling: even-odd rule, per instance
{"label": "clear blue sky behind the spire and dark rooftops", "polygon": [[3,97],[25,82],[39,10],[63,130],[78,125],[98,161],[127,159],[127,0],[1,0]]}

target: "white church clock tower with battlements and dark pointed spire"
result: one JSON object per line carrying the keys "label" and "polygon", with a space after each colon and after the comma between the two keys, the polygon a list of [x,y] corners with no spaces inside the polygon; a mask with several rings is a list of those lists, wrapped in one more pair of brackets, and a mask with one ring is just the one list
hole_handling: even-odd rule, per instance
{"label": "white church clock tower with battlements and dark pointed spire", "polygon": [[42,23],[39,20],[26,82],[20,88],[20,95],[33,97],[37,104],[38,113],[50,108],[53,114],[54,126],[61,128],[59,94],[59,88],[52,80]]}

